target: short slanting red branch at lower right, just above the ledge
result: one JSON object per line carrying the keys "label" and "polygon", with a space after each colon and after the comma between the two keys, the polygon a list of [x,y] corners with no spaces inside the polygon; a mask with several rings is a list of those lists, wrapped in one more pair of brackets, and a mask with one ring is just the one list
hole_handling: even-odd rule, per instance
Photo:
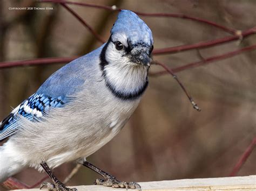
{"label": "short slanting red branch at lower right, just above the ledge", "polygon": [[252,140],[250,145],[246,148],[245,152],[241,155],[240,159],[238,160],[237,164],[233,168],[233,171],[230,173],[230,176],[235,176],[238,171],[240,170],[241,166],[245,164],[246,160],[252,153],[253,149],[256,146],[256,137]]}

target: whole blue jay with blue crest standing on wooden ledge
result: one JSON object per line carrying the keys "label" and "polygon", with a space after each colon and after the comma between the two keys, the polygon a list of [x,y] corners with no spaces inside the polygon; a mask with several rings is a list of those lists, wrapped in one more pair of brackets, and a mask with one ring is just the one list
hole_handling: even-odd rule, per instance
{"label": "whole blue jay with blue crest standing on wooden ledge", "polygon": [[104,179],[95,184],[139,188],[86,161],[123,128],[147,88],[153,37],[135,13],[122,10],[107,43],[53,73],[35,94],[0,123],[0,182],[25,167],[44,170],[53,184],[67,188],[51,172],[77,160]]}

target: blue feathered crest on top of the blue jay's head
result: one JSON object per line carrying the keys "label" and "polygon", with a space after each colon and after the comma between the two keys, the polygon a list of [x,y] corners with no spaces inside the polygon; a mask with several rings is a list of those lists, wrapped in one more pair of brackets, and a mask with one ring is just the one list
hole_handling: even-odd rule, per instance
{"label": "blue feathered crest on top of the blue jay's head", "polygon": [[111,34],[125,34],[131,44],[146,44],[152,46],[153,36],[150,28],[134,12],[122,10],[117,16]]}

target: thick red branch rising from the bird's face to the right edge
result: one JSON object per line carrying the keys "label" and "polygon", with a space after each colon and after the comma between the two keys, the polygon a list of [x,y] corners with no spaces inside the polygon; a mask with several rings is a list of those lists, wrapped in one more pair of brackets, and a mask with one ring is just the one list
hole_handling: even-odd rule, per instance
{"label": "thick red branch rising from the bird's face to the right edge", "polygon": [[158,49],[155,49],[152,53],[154,55],[171,54],[171,53],[173,54],[177,52],[188,51],[190,49],[195,49],[195,48],[206,48],[206,47],[228,43],[234,40],[239,40],[240,38],[244,39],[245,37],[248,37],[255,33],[256,33],[256,26],[252,27],[251,29],[240,32],[239,35],[235,34],[234,36],[227,36],[224,38],[203,41],[203,42],[195,43],[192,45],[181,45],[181,46],[174,46],[174,47],[167,47],[167,48],[158,48]]}

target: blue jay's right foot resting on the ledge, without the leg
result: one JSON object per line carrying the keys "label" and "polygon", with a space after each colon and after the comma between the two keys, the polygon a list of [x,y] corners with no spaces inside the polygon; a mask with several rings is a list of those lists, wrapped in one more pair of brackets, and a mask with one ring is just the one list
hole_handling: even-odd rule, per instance
{"label": "blue jay's right foot resting on the ledge, without the leg", "polygon": [[106,180],[104,179],[96,179],[93,182],[95,185],[103,185],[113,188],[131,188],[131,189],[139,189],[142,190],[140,185],[136,182],[122,182],[117,180],[114,176],[109,175]]}

